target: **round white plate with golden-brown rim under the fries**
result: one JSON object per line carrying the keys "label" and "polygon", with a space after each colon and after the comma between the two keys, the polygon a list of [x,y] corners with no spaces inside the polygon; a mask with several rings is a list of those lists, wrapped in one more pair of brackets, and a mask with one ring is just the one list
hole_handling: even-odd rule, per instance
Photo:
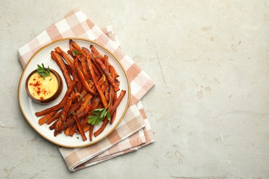
{"label": "round white plate with golden-brown rim under the fries", "polygon": [[[39,112],[43,109],[46,109],[48,107],[51,107],[52,105],[56,105],[61,101],[61,98],[63,98],[65,92],[66,92],[66,81],[64,81],[63,74],[61,73],[61,70],[59,69],[58,65],[52,61],[50,58],[50,52],[54,50],[54,48],[57,48],[58,46],[65,52],[69,50],[69,39],[73,39],[76,41],[81,47],[86,47],[90,49],[90,45],[94,45],[97,50],[101,54],[108,55],[108,59],[111,65],[114,66],[115,70],[117,70],[117,73],[119,74],[119,81],[120,83],[120,89],[126,90],[126,95],[124,96],[123,100],[121,101],[119,107],[117,108],[117,118],[114,120],[114,123],[112,125],[108,124],[106,129],[96,138],[92,136],[92,142],[90,142],[88,138],[88,132],[86,132],[86,136],[88,140],[83,141],[81,136],[79,134],[74,134],[74,136],[66,136],[65,134],[58,134],[56,137],[53,135],[54,130],[50,130],[50,125],[39,125],[38,120],[41,117],[37,117],[34,115],[35,112]],[[37,69],[37,64],[43,63],[46,67],[49,66],[50,68],[56,70],[63,79],[63,91],[61,92],[60,96],[52,103],[48,105],[39,105],[37,103],[34,103],[31,98],[26,93],[25,89],[25,83],[26,78],[30,72]],[[121,91],[121,90],[120,90]],[[119,91],[119,92],[120,92]],[[118,92],[118,94],[119,94]],[[37,131],[43,138],[46,138],[47,140],[50,140],[50,142],[60,145],[62,147],[85,147],[88,145],[92,145],[94,143],[99,142],[100,140],[103,140],[108,136],[121,122],[124,114],[126,113],[126,110],[128,108],[128,103],[130,101],[130,83],[128,81],[128,77],[126,75],[126,71],[123,69],[123,66],[119,61],[113,56],[113,54],[108,51],[106,48],[103,48],[101,45],[94,43],[93,41],[89,41],[87,39],[78,39],[78,38],[68,38],[68,39],[61,39],[58,41],[54,41],[52,43],[49,43],[48,45],[45,45],[43,48],[38,50],[30,59],[30,61],[27,63],[26,67],[23,70],[23,74],[21,74],[21,79],[19,81],[19,89],[18,89],[18,98],[19,98],[19,105],[21,107],[21,111],[23,112],[23,116],[26,118],[27,122],[30,124],[30,126]],[[99,129],[101,126],[101,123],[99,126],[94,127],[94,131]]]}

